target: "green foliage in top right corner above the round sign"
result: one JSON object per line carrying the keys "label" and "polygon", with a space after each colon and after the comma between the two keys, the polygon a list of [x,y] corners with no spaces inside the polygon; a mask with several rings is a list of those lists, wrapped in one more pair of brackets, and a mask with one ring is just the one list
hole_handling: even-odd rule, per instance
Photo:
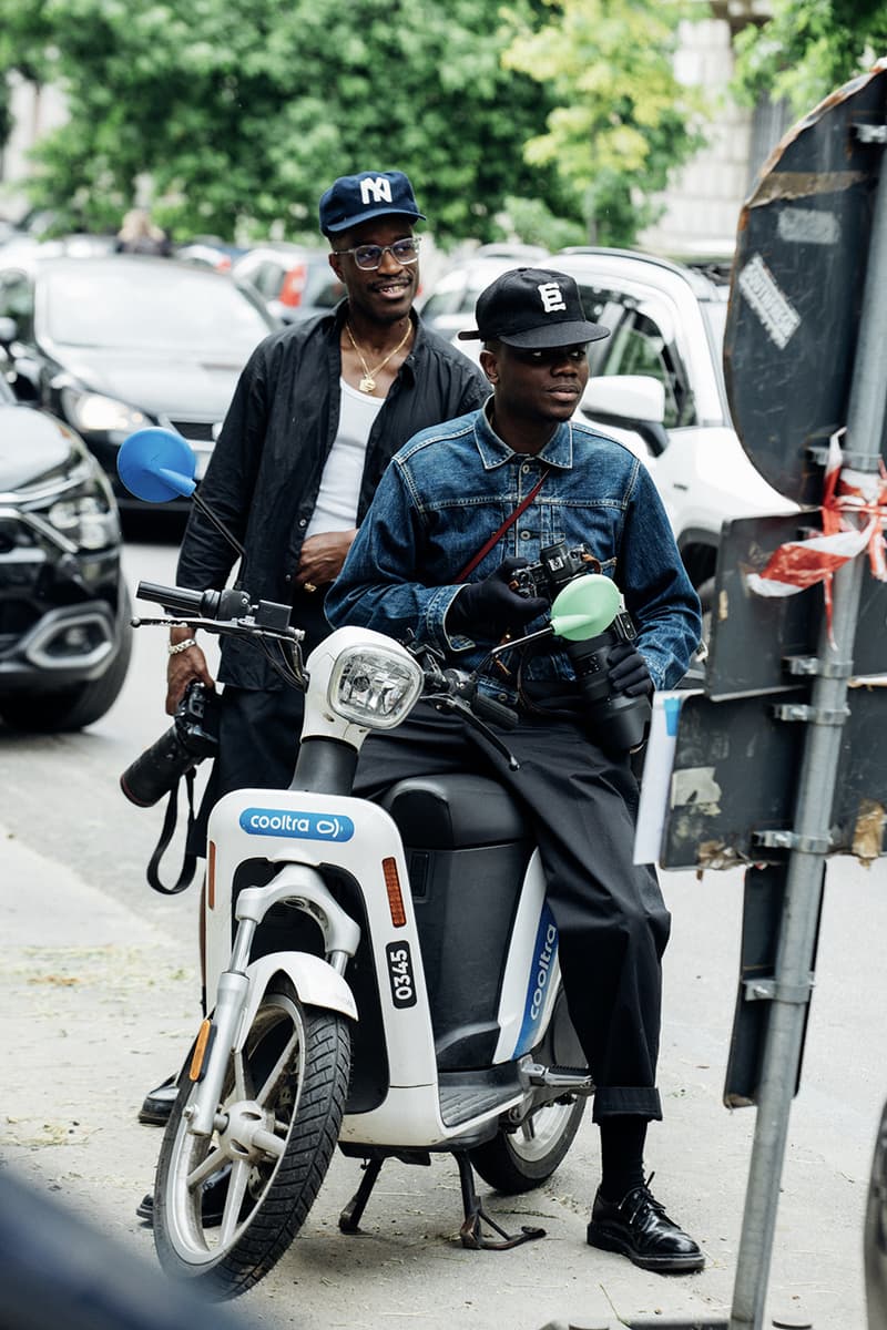
{"label": "green foliage in top right corner above the round sign", "polygon": [[773,0],[773,17],[737,39],[737,89],[805,114],[887,56],[884,0]]}

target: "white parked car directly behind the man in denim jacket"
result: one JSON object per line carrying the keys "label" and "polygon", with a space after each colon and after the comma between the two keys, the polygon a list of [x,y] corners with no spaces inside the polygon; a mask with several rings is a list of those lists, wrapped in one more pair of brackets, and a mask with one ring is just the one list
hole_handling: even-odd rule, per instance
{"label": "white parked car directly behind the man in denim jacket", "polygon": [[[754,468],[730,420],[722,368],[729,263],[697,267],[630,250],[568,249],[544,266],[573,277],[588,318],[610,329],[589,347],[580,415],[650,468],[709,609],[723,521],[797,507]],[[473,282],[473,271],[465,277]],[[472,315],[473,305],[459,329],[471,327]],[[477,343],[455,344],[479,354]]]}

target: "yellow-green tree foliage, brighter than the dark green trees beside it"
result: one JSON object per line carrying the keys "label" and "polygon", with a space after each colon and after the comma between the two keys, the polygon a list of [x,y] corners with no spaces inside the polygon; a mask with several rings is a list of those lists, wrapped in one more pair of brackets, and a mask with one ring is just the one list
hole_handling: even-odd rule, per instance
{"label": "yellow-green tree foliage, brighter than the dark green trees beside it", "polygon": [[547,0],[548,21],[505,52],[511,69],[551,89],[547,133],[525,148],[535,166],[557,165],[588,235],[629,245],[658,215],[653,196],[703,144],[703,108],[674,77],[680,20],[673,0]]}

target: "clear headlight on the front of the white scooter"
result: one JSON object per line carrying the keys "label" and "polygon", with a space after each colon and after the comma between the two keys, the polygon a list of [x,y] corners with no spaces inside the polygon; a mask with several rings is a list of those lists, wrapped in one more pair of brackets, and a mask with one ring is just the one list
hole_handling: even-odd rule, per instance
{"label": "clear headlight on the front of the white scooter", "polygon": [[339,656],[327,698],[346,721],[390,730],[410,713],[422,693],[422,670],[400,652],[354,646]]}

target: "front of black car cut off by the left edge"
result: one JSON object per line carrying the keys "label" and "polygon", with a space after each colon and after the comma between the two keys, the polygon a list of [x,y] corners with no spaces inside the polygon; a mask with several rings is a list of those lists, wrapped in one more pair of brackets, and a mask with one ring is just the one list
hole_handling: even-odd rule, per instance
{"label": "front of black car cut off by the left edge", "polygon": [[126,677],[130,604],[110,485],[81,439],[0,375],[0,717],[77,730]]}

